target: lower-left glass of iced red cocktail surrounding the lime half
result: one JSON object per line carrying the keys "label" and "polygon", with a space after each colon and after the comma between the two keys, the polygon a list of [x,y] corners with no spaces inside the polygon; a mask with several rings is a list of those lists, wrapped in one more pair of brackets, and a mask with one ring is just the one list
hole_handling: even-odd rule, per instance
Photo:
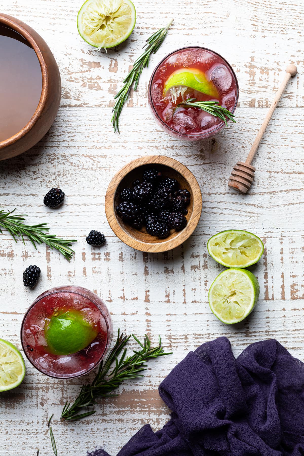
{"label": "lower-left glass of iced red cocktail surrounding the lime half", "polygon": [[[78,352],[52,354],[45,337],[47,325],[52,317],[67,312],[81,315],[97,335]],[[56,378],[74,378],[91,371],[105,356],[112,335],[111,316],[103,301],[92,291],[71,285],[52,288],[38,296],[21,324],[21,344],[27,359],[40,372]]]}

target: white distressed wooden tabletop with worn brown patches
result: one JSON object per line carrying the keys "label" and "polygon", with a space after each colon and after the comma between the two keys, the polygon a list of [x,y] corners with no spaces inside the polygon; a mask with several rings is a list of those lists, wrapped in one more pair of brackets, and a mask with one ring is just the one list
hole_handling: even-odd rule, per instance
{"label": "white distressed wooden tabletop with worn brown patches", "polygon": [[[0,0],[0,11],[36,29],[52,49],[62,77],[57,118],[39,144],[0,162],[0,206],[47,222],[52,233],[77,238],[67,262],[44,245],[15,244],[0,236],[0,337],[20,347],[22,317],[33,299],[57,285],[77,284],[106,302],[114,333],[120,327],[139,337],[149,334],[173,351],[150,363],[144,379],[125,383],[119,397],[100,401],[97,413],[60,424],[62,406],[79,392],[83,379],[55,380],[26,362],[26,378],[0,397],[0,455],[52,455],[47,420],[54,413],[58,455],[85,456],[95,446],[116,455],[139,428],[154,430],[168,419],[157,387],[191,349],[219,336],[229,337],[235,354],[249,343],[277,338],[304,360],[304,68],[302,0],[135,0],[137,23],[123,45],[96,52],[77,33],[82,1]],[[165,42],[151,58],[120,118],[121,134],[110,123],[114,94],[121,87],[147,36],[175,17]],[[232,64],[239,81],[237,124],[215,138],[187,143],[171,138],[147,106],[149,76],[168,52],[186,45],[206,46]],[[288,62],[298,75],[287,90],[263,137],[248,195],[227,187],[232,166],[243,160],[283,77]],[[2,62],[1,62],[2,64]],[[113,174],[145,154],[169,155],[196,176],[203,197],[201,220],[191,238],[164,254],[143,254],[116,238],[104,213],[105,192]],[[53,186],[66,193],[52,211],[43,196]],[[265,252],[252,267],[261,285],[254,312],[237,327],[211,313],[207,291],[223,269],[211,259],[206,241],[225,228],[248,229],[263,239]],[[98,229],[103,248],[85,237]],[[22,284],[30,264],[42,274],[34,290]],[[132,347],[132,344],[130,344]]]}

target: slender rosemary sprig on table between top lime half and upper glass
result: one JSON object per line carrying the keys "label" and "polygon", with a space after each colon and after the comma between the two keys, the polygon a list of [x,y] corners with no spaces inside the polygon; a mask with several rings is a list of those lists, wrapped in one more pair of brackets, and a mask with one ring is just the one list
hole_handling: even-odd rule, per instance
{"label": "slender rosemary sprig on table between top lime half and upper glass", "polygon": [[119,115],[124,107],[124,103],[129,97],[131,87],[134,84],[134,90],[136,90],[139,82],[139,76],[141,75],[143,69],[149,65],[150,55],[155,54],[155,52],[158,51],[173,21],[174,20],[171,19],[167,26],[160,29],[159,31],[156,31],[147,39],[146,44],[144,45],[144,47],[146,47],[144,53],[134,62],[132,70],[129,72],[126,78],[124,78],[124,87],[121,88],[114,97],[114,99],[117,100],[112,109],[113,116],[111,119],[114,132],[116,130],[119,132]]}

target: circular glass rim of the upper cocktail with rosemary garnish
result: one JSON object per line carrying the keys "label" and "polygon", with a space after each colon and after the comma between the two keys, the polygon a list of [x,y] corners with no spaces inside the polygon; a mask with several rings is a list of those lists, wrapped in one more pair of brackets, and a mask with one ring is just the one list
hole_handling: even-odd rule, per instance
{"label": "circular glass rim of the upper cocktail with rosemary garnish", "polygon": [[[161,63],[164,62],[165,59],[170,57],[172,54],[175,54],[175,52],[184,51],[185,49],[204,49],[205,51],[209,51],[209,52],[212,52],[213,54],[216,54],[218,57],[220,57],[227,64],[227,67],[231,70],[232,75],[233,75],[233,77],[235,79],[235,82],[236,82],[236,86],[237,86],[237,96],[236,96],[235,104],[234,104],[233,109],[231,111],[232,114],[237,109],[237,103],[238,103],[238,97],[239,97],[239,94],[240,94],[240,90],[239,90],[239,87],[238,87],[237,75],[235,74],[234,69],[232,68],[230,63],[224,57],[221,56],[221,54],[219,54],[216,51],[213,51],[212,49],[209,49],[208,47],[203,47],[203,46],[185,46],[185,47],[180,47],[179,49],[175,49],[175,51],[169,52],[169,54],[167,54],[165,57],[163,57],[160,60],[160,62],[158,62],[158,64],[154,68],[153,73],[152,73],[152,75],[151,75],[151,77],[149,79],[148,97],[151,100],[151,103],[149,103],[149,105],[150,105],[150,107],[151,107],[151,109],[153,111],[153,114],[155,115],[155,118],[160,122],[161,125],[165,126],[165,129],[170,130],[170,133],[172,132],[173,134],[178,134],[180,139],[189,139],[189,138],[191,139],[192,138],[192,139],[196,139],[196,140],[197,139],[198,140],[200,140],[200,139],[203,140],[204,138],[210,137],[210,135],[215,135],[219,130],[222,130],[222,128],[225,125],[225,123],[222,121],[220,124],[217,124],[216,127],[213,130],[202,132],[202,133],[197,133],[197,135],[189,135],[188,133],[180,133],[179,131],[176,131],[173,128],[171,128],[169,125],[167,125],[164,122],[163,119],[160,118],[159,114],[157,113],[157,111],[155,109],[155,106],[154,106],[153,100],[152,100],[152,93],[151,93],[152,81],[153,81],[153,78],[154,78],[154,75],[155,75],[157,69],[160,67]],[[230,119],[227,119],[227,123],[229,122],[229,120]]]}

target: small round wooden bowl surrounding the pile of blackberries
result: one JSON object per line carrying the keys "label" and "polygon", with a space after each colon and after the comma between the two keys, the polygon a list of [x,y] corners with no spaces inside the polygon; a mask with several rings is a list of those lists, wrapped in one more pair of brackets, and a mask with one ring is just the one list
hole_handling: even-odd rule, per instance
{"label": "small round wooden bowl surrounding the pile of blackberries", "polygon": [[[168,238],[159,239],[132,228],[123,222],[116,214],[115,207],[119,204],[119,193],[123,188],[131,187],[135,179],[142,179],[146,169],[156,168],[165,177],[172,177],[178,181],[180,188],[186,188],[191,194],[191,202],[187,206],[187,225],[181,231],[171,230]],[[174,249],[185,242],[195,230],[201,217],[202,199],[201,189],[193,176],[179,161],[163,155],[149,155],[137,158],[119,170],[108,186],[105,198],[105,211],[108,223],[116,236],[133,249],[142,252],[165,252]]]}

